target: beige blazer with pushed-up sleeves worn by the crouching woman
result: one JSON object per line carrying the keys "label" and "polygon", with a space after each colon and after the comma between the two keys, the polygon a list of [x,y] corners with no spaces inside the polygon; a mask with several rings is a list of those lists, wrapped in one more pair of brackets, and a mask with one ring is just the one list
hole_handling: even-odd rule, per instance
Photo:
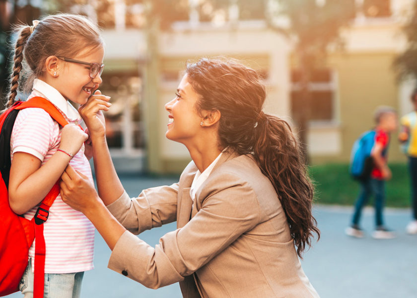
{"label": "beige blazer with pushed-up sleeves worn by the crouching woman", "polygon": [[[126,192],[108,209],[129,231],[108,267],[148,288],[180,283],[183,297],[318,298],[301,269],[284,211],[253,157],[224,152],[190,197],[197,167],[179,183]],[[154,248],[134,234],[177,221]]]}

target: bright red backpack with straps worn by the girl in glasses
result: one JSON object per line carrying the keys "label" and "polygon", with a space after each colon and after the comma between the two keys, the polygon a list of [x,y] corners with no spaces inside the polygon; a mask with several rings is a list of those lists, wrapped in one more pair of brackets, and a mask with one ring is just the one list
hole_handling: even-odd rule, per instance
{"label": "bright red backpack with straps worn by the girl in glasses", "polygon": [[34,298],[44,294],[45,239],[43,223],[49,215],[49,208],[60,193],[58,181],[42,200],[34,218],[27,220],[15,214],[9,205],[8,181],[10,171],[10,136],[19,110],[42,108],[61,126],[68,124],[60,111],[47,99],[33,97],[28,101],[16,102],[0,115],[0,296],[17,292],[21,277],[27,267],[29,248],[35,243]]}

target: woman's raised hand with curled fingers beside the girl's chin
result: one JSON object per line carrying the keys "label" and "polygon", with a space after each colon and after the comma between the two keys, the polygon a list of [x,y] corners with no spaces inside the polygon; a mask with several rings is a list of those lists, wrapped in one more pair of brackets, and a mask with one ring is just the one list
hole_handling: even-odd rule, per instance
{"label": "woman's raised hand with curled fingers beside the girl's chin", "polygon": [[110,96],[101,94],[96,90],[93,95],[88,98],[88,101],[78,108],[78,112],[87,125],[90,136],[106,134],[106,124],[102,111],[108,111],[112,105]]}

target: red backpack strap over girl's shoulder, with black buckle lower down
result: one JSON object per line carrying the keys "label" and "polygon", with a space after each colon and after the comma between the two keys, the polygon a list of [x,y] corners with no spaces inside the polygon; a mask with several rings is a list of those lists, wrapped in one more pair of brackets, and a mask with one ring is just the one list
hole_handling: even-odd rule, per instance
{"label": "red backpack strap over girl's shoulder, with black buckle lower down", "polygon": [[[57,121],[61,126],[66,126],[68,121],[61,114],[56,106],[54,106],[49,100],[43,97],[32,97],[28,101],[22,102],[15,109],[21,110],[25,108],[41,108]],[[34,273],[34,287],[33,297],[43,298],[44,286],[45,286],[45,237],[43,234],[44,223],[48,219],[49,209],[54,203],[55,199],[60,193],[60,186],[58,180],[46,197],[42,200],[41,205],[38,207],[35,216],[32,221],[35,225],[35,273]]]}

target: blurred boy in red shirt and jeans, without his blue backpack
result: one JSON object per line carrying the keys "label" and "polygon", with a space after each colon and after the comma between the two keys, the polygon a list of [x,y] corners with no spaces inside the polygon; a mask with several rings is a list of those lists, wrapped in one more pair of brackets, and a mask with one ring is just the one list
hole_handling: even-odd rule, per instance
{"label": "blurred boy in red shirt and jeans, without his blue backpack", "polygon": [[359,226],[360,215],[369,197],[375,195],[376,228],[372,237],[376,239],[394,238],[395,234],[385,227],[383,221],[383,208],[385,201],[385,180],[391,178],[391,170],[387,165],[387,151],[389,134],[397,129],[397,113],[391,107],[378,107],[374,114],[375,145],[371,151],[374,168],[368,179],[361,181],[361,190],[357,197],[351,225],[346,229],[349,236],[362,238],[363,230]]}

